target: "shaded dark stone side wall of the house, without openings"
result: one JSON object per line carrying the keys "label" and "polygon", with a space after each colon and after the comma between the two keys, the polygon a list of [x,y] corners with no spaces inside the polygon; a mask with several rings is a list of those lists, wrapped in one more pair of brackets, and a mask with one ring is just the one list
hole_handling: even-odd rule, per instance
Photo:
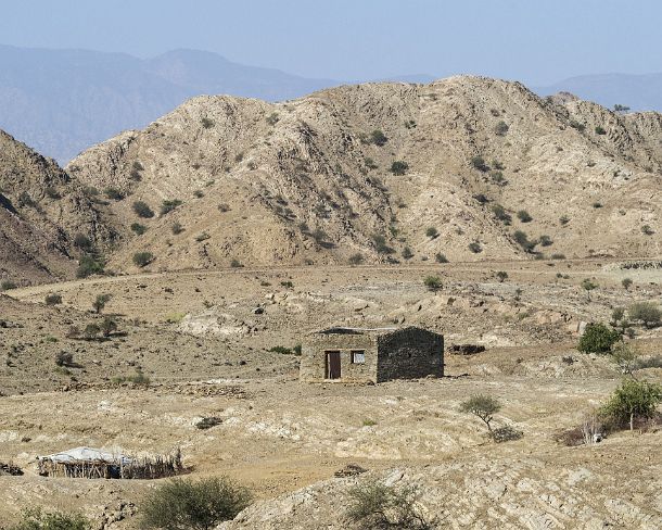
{"label": "shaded dark stone side wall of the house, without openings", "polygon": [[405,328],[377,338],[377,382],[444,375],[444,337]]}

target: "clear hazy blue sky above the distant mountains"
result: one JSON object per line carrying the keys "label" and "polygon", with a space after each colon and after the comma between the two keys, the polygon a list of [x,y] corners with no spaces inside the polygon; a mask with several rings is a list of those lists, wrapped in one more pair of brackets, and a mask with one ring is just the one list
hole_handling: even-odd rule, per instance
{"label": "clear hazy blue sky above the distant mountains", "polygon": [[0,43],[175,48],[307,77],[485,74],[547,84],[662,72],[659,0],[16,0]]}

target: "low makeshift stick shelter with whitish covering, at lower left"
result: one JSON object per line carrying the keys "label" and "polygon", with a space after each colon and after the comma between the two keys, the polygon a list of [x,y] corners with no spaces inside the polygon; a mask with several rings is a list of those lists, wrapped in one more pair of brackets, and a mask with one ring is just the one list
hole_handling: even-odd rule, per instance
{"label": "low makeshift stick shelter with whitish covering, at lower left", "polygon": [[92,447],[76,447],[37,457],[39,475],[86,479],[157,479],[182,472],[181,452],[130,457]]}

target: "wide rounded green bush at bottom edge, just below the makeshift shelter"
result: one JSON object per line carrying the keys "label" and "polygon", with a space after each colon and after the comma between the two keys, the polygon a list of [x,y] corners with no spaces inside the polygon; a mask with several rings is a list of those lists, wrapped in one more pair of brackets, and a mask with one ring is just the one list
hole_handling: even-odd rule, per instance
{"label": "wide rounded green bush at bottom edge, just below the makeshift shelter", "polygon": [[249,490],[226,477],[198,482],[174,479],[147,495],[141,522],[148,529],[211,530],[250,503]]}

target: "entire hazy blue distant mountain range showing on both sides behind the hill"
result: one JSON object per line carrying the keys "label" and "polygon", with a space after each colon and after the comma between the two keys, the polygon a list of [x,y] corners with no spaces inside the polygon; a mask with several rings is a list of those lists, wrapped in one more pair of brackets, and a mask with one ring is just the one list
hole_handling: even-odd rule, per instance
{"label": "entire hazy blue distant mountain range showing on both sides behind the hill", "polygon": [[[374,80],[430,83],[433,76]],[[356,79],[351,83],[364,83]],[[139,129],[200,94],[282,101],[347,81],[313,79],[233,63],[216,53],[175,50],[152,59],[88,50],[0,46],[0,129],[66,163],[90,146]],[[566,79],[534,90],[566,90],[606,106],[662,110],[662,74]]]}

